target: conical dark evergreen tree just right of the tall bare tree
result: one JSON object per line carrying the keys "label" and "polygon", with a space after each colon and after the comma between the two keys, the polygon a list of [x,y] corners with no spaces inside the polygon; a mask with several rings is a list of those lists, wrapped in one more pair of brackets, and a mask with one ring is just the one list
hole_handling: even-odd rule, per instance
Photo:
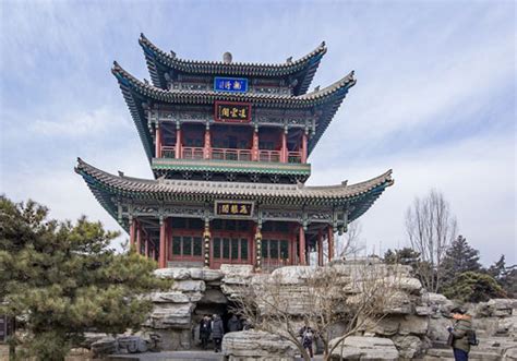
{"label": "conical dark evergreen tree just right of the tall bare tree", "polygon": [[443,261],[443,288],[455,281],[457,275],[466,272],[481,272],[479,251],[469,245],[467,239],[458,236],[450,243]]}

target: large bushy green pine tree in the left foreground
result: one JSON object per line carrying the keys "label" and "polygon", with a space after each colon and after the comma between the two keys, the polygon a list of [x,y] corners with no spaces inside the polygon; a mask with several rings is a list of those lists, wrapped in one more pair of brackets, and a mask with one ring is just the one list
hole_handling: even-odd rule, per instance
{"label": "large bushy green pine tree in the left foreground", "polygon": [[140,296],[169,286],[156,263],[109,249],[117,232],[85,217],[47,219],[32,201],[0,196],[0,314],[19,316],[23,349],[38,360],[62,360],[83,333],[136,329],[152,310]]}

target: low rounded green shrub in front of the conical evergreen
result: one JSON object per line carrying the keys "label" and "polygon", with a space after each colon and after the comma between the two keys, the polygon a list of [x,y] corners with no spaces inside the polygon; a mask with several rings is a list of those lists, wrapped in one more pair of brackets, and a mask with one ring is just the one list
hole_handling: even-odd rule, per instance
{"label": "low rounded green shrub in front of the conical evergreen", "polygon": [[506,297],[506,292],[492,276],[476,272],[458,275],[443,293],[449,299],[461,302],[484,302]]}

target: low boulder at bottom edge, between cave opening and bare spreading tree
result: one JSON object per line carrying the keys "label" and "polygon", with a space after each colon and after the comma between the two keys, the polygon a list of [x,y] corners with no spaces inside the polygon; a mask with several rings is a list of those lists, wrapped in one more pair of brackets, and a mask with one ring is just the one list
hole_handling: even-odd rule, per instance
{"label": "low boulder at bottom edge, between cave opening and bare spreading tree", "polygon": [[229,360],[292,360],[297,350],[277,335],[253,329],[228,333],[223,338],[223,354]]}

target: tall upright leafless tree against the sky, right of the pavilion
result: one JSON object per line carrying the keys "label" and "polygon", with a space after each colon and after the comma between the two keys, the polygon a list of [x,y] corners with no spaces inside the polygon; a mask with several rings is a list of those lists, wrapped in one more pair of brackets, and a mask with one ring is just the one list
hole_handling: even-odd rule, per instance
{"label": "tall upright leafless tree against the sky, right of the pavilion", "polygon": [[422,284],[436,292],[445,253],[457,232],[456,217],[441,192],[431,190],[424,198],[414,198],[406,213],[406,231],[411,248],[420,253],[417,273]]}

